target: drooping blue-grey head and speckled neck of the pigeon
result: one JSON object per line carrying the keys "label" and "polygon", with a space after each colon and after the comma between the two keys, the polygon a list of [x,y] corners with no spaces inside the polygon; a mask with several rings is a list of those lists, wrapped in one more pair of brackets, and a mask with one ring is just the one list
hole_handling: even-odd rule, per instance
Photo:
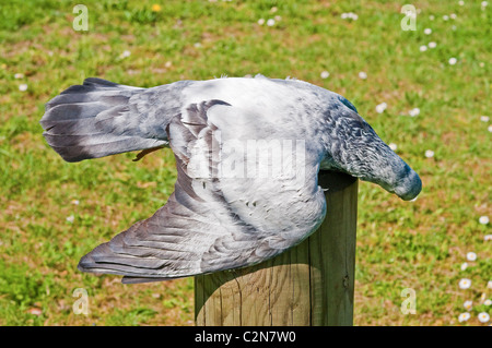
{"label": "drooping blue-grey head and speckled neck of the pigeon", "polygon": [[419,175],[376,134],[373,128],[344,100],[345,107],[327,111],[329,137],[321,169],[339,170],[377,183],[405,201],[422,190]]}

